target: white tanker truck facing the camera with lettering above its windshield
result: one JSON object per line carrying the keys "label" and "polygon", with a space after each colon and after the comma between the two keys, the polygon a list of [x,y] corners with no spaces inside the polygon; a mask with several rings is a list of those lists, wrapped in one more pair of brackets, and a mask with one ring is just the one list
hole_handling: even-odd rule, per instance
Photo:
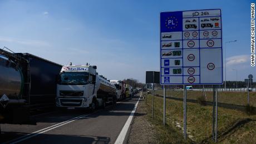
{"label": "white tanker truck facing the camera with lettering above its windshield", "polygon": [[60,108],[105,107],[116,103],[114,84],[96,73],[96,66],[63,66],[57,82],[56,106]]}

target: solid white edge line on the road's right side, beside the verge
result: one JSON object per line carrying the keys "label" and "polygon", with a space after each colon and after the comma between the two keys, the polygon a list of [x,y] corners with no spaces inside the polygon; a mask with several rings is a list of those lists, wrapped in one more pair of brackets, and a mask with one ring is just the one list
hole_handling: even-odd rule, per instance
{"label": "solid white edge line on the road's right side, beside the verge", "polygon": [[[141,93],[140,93],[140,97],[141,97]],[[134,117],[134,113],[136,112],[137,105],[138,105],[139,101],[140,101],[140,98],[137,101],[137,103],[136,103],[136,105],[134,107],[134,110],[131,111],[131,115],[127,119],[124,127],[122,127],[122,131],[120,132],[119,136],[116,138],[115,144],[122,144],[122,143],[124,143],[126,133],[127,133],[128,129],[129,129],[129,126],[131,125],[132,117]]]}

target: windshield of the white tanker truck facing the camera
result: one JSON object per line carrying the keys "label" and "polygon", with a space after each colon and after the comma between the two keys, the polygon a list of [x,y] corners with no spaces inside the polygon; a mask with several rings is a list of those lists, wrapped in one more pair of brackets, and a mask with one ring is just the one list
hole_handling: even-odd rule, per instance
{"label": "windshield of the white tanker truck facing the camera", "polygon": [[60,85],[86,85],[88,83],[88,72],[62,72]]}

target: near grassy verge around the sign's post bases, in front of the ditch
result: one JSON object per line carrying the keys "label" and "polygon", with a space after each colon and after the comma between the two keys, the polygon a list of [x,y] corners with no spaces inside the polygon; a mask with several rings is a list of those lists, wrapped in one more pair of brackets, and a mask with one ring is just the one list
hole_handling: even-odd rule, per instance
{"label": "near grassy verge around the sign's post bases, in front of the ditch", "polygon": [[[183,133],[177,122],[183,127],[183,102],[166,99],[166,123],[163,126],[163,98],[155,97],[155,115],[151,118],[151,98],[147,95],[147,115],[156,125],[159,143],[213,143],[211,141],[212,107],[198,103],[187,103],[187,129],[189,140],[184,141]],[[256,116],[245,112],[220,108],[218,110],[219,143],[256,143]]]}

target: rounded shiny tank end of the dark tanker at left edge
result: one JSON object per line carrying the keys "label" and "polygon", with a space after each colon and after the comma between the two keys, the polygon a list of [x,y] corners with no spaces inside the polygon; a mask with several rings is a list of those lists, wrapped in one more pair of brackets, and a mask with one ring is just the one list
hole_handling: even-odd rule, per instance
{"label": "rounded shiny tank end of the dark tanker at left edge", "polygon": [[23,86],[22,72],[16,63],[0,55],[0,97],[19,98]]}

